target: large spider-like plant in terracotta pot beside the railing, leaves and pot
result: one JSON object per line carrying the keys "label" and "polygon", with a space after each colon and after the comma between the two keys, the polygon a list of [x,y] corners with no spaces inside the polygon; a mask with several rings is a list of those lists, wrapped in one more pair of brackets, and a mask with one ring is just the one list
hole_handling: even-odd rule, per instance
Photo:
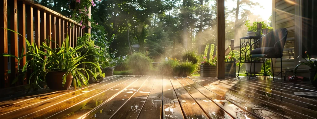
{"label": "large spider-like plant in terracotta pot beside the railing, leaves and pot", "polygon": [[[74,88],[81,87],[81,81],[89,86],[89,69],[77,68],[78,65],[86,63],[93,64],[102,74],[100,67],[92,62],[85,62],[86,54],[81,54],[78,50],[81,49],[84,44],[72,48],[69,44],[68,34],[66,40],[64,40],[62,46],[59,49],[51,49],[49,40],[46,43],[42,43],[43,49],[47,52],[43,55],[46,56],[42,63],[43,78],[46,81],[48,87],[54,90],[64,90],[70,87],[73,82]],[[81,73],[86,72],[87,77]],[[92,72],[91,72],[92,73]],[[96,78],[96,77],[95,77]],[[81,81],[80,81],[81,80]]]}

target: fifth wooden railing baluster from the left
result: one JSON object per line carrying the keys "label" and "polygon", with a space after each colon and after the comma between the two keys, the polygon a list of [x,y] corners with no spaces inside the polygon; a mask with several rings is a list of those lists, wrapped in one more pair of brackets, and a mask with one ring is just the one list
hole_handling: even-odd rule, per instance
{"label": "fifth wooden railing baluster from the left", "polygon": [[34,42],[35,42],[35,44],[36,44],[36,46],[40,46],[40,44],[41,44],[41,34],[40,34],[40,30],[41,30],[41,25],[40,25],[40,22],[41,22],[41,20],[40,20],[40,10],[38,10],[38,9],[33,9],[33,12],[34,12],[34,27],[35,27],[35,29],[34,29],[34,31],[35,31],[35,40],[34,40]]}

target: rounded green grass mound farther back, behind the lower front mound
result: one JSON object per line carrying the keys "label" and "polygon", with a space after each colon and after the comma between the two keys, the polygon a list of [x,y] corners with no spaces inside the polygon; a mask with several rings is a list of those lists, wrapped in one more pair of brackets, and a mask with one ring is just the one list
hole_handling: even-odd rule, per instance
{"label": "rounded green grass mound farther back, behind the lower front mound", "polygon": [[189,61],[193,64],[197,64],[199,62],[199,55],[195,50],[184,50],[181,53],[181,58],[183,61]]}

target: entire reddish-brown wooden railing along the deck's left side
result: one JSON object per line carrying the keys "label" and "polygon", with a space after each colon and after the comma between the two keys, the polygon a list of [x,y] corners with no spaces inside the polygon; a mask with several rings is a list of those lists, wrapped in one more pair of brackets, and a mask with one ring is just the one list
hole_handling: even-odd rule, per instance
{"label": "entire reddish-brown wooden railing along the deck's left side", "polygon": [[[9,53],[19,56],[26,45],[22,36],[27,37],[30,43],[35,42],[37,46],[45,39],[51,39],[61,45],[68,33],[70,44],[74,47],[77,44],[77,37],[83,36],[85,32],[74,20],[32,0],[3,0],[0,2],[0,15],[0,54]],[[22,36],[2,28],[17,31]],[[57,46],[53,43],[51,47]],[[24,66],[25,62],[26,59],[23,58],[20,65]],[[23,82],[18,81],[11,85],[13,79],[18,76],[18,62],[15,58],[1,56],[0,63],[0,88],[27,84],[25,78]]]}

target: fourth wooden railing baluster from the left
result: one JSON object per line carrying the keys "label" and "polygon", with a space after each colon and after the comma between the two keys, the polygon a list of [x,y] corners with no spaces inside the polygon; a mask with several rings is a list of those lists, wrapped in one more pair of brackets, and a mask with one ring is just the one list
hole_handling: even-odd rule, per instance
{"label": "fourth wooden railing baluster from the left", "polygon": [[26,17],[27,17],[27,35],[28,41],[33,44],[33,7],[26,5]]}

